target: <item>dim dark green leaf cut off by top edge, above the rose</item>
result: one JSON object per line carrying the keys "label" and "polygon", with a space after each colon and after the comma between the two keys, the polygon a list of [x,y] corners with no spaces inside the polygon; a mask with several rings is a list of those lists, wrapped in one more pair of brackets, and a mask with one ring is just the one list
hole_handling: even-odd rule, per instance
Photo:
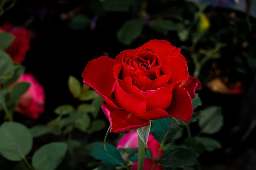
{"label": "dim dark green leaf cut off by top edge, above the rose", "polygon": [[102,8],[105,11],[125,12],[130,6],[129,0],[105,0],[102,2]]}

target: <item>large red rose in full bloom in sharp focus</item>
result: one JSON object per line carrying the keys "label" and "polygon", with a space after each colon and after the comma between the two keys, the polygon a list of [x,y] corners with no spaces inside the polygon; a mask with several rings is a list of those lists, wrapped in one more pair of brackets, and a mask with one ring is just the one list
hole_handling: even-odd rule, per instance
{"label": "large red rose in full bloom in sharp focus", "polygon": [[201,83],[188,75],[180,50],[168,41],[151,40],[122,51],[115,60],[102,56],[87,64],[83,82],[107,103],[101,107],[110,132],[137,129],[167,117],[190,121],[191,99]]}

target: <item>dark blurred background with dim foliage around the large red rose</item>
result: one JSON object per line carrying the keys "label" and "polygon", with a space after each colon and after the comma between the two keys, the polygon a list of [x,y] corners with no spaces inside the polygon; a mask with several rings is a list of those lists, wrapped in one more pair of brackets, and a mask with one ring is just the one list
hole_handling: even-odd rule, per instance
{"label": "dark blurred background with dim foliage around the large red rose", "polygon": [[[5,1],[5,0],[1,0]],[[5,3],[7,9],[13,2]],[[256,169],[256,2],[253,0],[17,0],[0,16],[0,25],[25,27],[31,47],[23,65],[46,94],[45,111],[27,124],[45,124],[57,117],[62,104],[76,105],[68,77],[82,83],[87,63],[122,50],[135,49],[152,39],[181,48],[190,75],[202,82],[199,109],[221,106],[224,126],[210,135],[222,144],[199,158],[203,169]],[[208,5],[206,5],[208,4]],[[126,25],[127,21],[138,20]],[[127,36],[126,36],[127,35]],[[193,55],[205,60],[196,72]],[[207,58],[207,59],[205,59]],[[102,111],[99,118],[108,120]],[[108,126],[89,141],[102,140]],[[191,133],[198,132],[192,124]],[[74,136],[84,138],[76,131]],[[118,134],[110,134],[115,140]],[[56,140],[59,137],[52,135]],[[52,138],[37,139],[38,145]],[[86,157],[84,158],[86,159]]]}

